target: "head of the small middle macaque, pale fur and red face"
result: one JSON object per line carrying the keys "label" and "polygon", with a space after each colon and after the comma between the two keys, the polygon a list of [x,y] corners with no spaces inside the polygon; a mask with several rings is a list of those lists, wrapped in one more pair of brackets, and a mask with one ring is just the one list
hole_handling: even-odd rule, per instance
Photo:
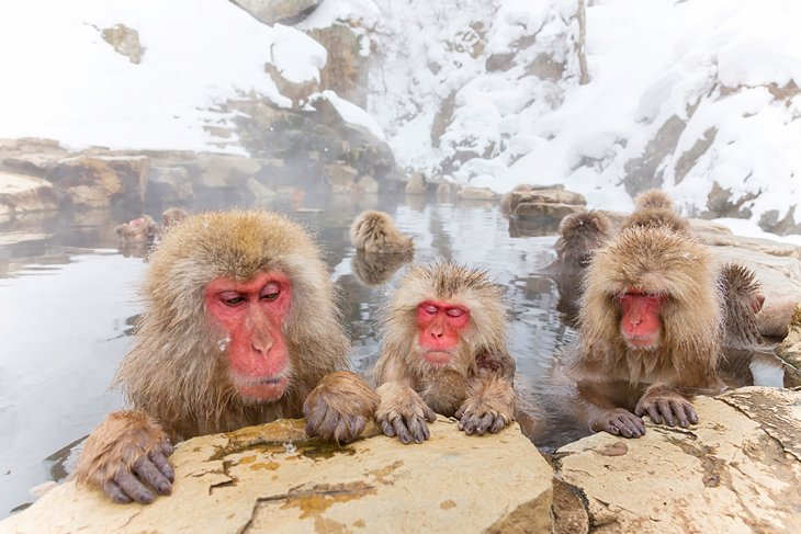
{"label": "head of the small middle macaque, pale fur and red face", "polygon": [[385,343],[413,368],[466,374],[478,354],[505,346],[503,295],[483,271],[451,262],[411,265],[390,306]]}

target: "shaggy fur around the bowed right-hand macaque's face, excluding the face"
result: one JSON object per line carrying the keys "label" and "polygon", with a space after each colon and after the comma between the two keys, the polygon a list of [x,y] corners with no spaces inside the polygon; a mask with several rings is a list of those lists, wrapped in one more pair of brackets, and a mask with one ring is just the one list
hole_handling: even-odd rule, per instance
{"label": "shaggy fur around the bowed right-hand macaque's face, excluding the face", "polygon": [[[596,253],[579,311],[579,367],[636,383],[710,388],[723,319],[710,252],[666,228],[629,228]],[[665,295],[663,343],[630,349],[620,334],[616,299],[628,288]]]}

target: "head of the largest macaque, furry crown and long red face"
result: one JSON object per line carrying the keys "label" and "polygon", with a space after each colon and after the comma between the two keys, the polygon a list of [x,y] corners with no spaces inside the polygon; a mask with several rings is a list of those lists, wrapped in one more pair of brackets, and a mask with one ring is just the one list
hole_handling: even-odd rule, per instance
{"label": "head of the largest macaque, furry crown and long red face", "polygon": [[309,236],[281,215],[190,216],[153,255],[145,320],[189,344],[176,348],[174,365],[205,370],[206,380],[222,374],[245,400],[273,401],[305,376],[297,348],[319,342],[303,326],[336,317],[326,274]]}

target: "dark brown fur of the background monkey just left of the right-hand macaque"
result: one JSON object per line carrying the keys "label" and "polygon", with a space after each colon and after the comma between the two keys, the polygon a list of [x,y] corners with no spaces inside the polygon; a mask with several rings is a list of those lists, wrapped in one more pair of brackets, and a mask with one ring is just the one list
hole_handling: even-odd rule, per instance
{"label": "dark brown fur of the background monkey just left of the right-hand macaque", "polygon": [[559,225],[556,260],[548,268],[559,274],[578,274],[593,254],[612,237],[612,223],[600,212],[584,211],[567,215]]}

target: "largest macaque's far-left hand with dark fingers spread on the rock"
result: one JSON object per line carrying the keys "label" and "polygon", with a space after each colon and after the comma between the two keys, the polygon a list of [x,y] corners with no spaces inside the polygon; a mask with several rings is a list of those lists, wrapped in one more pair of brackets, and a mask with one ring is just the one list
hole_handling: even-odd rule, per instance
{"label": "largest macaque's far-left hand with dark fingers spread on the rock", "polygon": [[83,445],[78,484],[98,486],[114,502],[153,502],[170,495],[176,471],[167,459],[172,445],[159,424],[142,411],[111,413]]}

